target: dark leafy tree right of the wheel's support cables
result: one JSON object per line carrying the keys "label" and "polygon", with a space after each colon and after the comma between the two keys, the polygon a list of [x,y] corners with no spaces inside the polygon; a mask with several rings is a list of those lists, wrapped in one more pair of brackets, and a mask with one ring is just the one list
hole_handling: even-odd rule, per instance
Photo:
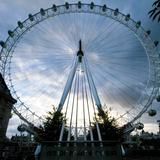
{"label": "dark leafy tree right of the wheel's support cables", "polygon": [[[98,140],[96,122],[99,125],[102,140],[121,140],[122,129],[118,127],[115,118],[109,116],[109,111],[98,109],[98,114],[92,126],[94,140]],[[89,134],[88,134],[89,137]]]}

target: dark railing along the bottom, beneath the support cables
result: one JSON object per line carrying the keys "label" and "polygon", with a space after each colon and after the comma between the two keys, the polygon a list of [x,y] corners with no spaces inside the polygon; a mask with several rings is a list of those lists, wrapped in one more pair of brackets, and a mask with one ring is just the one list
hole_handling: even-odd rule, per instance
{"label": "dark railing along the bottom, beneath the support cables", "polygon": [[123,147],[117,141],[42,142],[35,152],[36,160],[120,160]]}

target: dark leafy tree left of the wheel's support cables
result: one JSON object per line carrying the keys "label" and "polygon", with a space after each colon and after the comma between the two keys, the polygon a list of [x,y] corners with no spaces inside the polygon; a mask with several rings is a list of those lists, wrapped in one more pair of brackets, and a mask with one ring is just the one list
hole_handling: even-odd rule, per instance
{"label": "dark leafy tree left of the wheel's support cables", "polygon": [[[63,113],[56,111],[53,108],[52,112],[48,112],[48,116],[45,118],[43,122],[43,126],[41,126],[41,132],[39,132],[39,140],[40,141],[58,141],[62,124],[66,123],[66,119]],[[67,139],[68,131],[64,129],[63,140]]]}

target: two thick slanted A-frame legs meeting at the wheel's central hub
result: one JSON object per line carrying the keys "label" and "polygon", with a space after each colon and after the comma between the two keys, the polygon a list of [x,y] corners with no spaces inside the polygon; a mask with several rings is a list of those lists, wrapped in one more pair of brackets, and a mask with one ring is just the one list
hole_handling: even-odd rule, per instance
{"label": "two thick slanted A-frame legs meeting at the wheel's central hub", "polygon": [[[83,67],[83,70],[86,74],[86,77],[87,77],[87,82],[89,84],[89,87],[90,87],[90,91],[92,92],[92,95],[93,95],[93,99],[94,99],[94,102],[95,102],[95,105],[101,109],[102,105],[101,105],[101,102],[100,102],[100,98],[98,96],[98,92],[97,92],[97,89],[96,89],[96,86],[94,84],[94,81],[93,81],[93,77],[92,77],[92,74],[91,74],[91,71],[89,69],[89,65],[87,64],[87,60],[85,58],[85,55],[84,55],[84,52],[82,51],[82,42],[81,40],[79,41],[79,50],[77,52],[77,57],[76,57],[76,61],[75,61],[75,64],[73,66],[73,68],[71,69],[70,71],[70,74],[69,74],[69,77],[67,79],[67,82],[66,82],[66,85],[65,85],[65,88],[64,88],[64,91],[63,91],[63,94],[62,94],[62,97],[60,99],[60,103],[58,105],[58,109],[57,111],[61,111],[63,106],[64,106],[64,103],[67,99],[67,96],[69,95],[69,92],[71,91],[71,87],[72,87],[72,84],[73,84],[73,80],[74,80],[74,77],[75,77],[75,74],[76,74],[76,71],[79,67]],[[72,118],[72,117],[71,117]],[[63,132],[64,132],[64,124],[62,125],[62,129],[61,129],[61,134],[60,134],[60,138],[59,138],[59,141],[62,141],[63,139]],[[71,127],[71,126],[70,126]],[[98,126],[98,123],[96,123],[96,128],[97,128],[97,134],[98,134],[98,140],[99,141],[102,141],[102,138],[101,138],[101,133],[100,133],[100,129],[99,129],[99,126]],[[90,134],[91,134],[91,141],[93,141],[93,133],[91,131],[91,127],[90,127]],[[68,141],[70,141],[70,135],[71,135],[71,128],[69,129],[69,136],[68,136]],[[85,133],[86,134],[86,133]],[[77,135],[77,134],[76,134]],[[77,140],[77,138],[75,139]]]}

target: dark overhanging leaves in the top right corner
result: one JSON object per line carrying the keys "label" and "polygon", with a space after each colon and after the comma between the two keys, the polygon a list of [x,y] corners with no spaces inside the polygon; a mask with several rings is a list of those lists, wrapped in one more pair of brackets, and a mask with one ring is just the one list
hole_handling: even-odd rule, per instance
{"label": "dark overhanging leaves in the top right corner", "polygon": [[150,18],[155,20],[158,17],[158,22],[160,22],[160,0],[156,0],[153,5],[153,9],[148,12]]}

